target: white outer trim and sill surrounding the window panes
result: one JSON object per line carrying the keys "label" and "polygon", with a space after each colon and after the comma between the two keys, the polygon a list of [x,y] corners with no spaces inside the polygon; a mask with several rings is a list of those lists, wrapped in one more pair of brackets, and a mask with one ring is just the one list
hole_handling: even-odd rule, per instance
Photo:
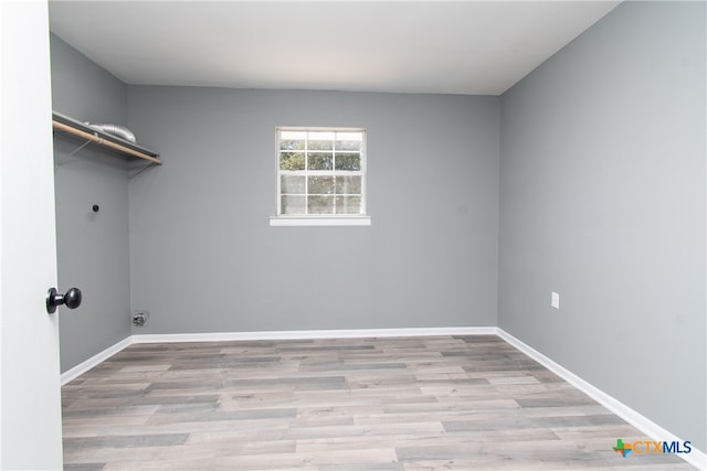
{"label": "white outer trim and sill surrounding the window panes", "polygon": [[[303,131],[360,131],[362,130],[365,133],[368,131],[366,128],[347,128],[347,127],[296,127],[296,126],[277,126],[275,128],[275,135],[276,135],[276,139],[275,139],[275,148],[276,148],[276,159],[277,159],[277,163],[276,163],[276,169],[278,169],[279,165],[279,158],[278,158],[278,152],[279,152],[279,148],[278,148],[278,132],[281,130],[303,130]],[[362,206],[363,206],[363,211],[367,211],[367,186],[368,186],[368,176],[367,176],[367,167],[368,167],[368,150],[366,149],[366,141],[363,143],[365,148],[363,148],[363,152],[365,152],[365,157],[363,157],[363,161],[362,161],[362,169],[361,169],[361,174],[363,175],[363,182],[362,182],[362,194],[361,194],[361,202],[362,202]],[[276,170],[277,172],[277,206],[276,206],[276,211],[279,210],[279,171]],[[270,226],[271,227],[296,227],[296,226],[370,226],[371,225],[371,216],[368,214],[352,214],[352,215],[345,215],[345,214],[317,214],[317,215],[275,215],[275,216],[271,216],[270,217]]]}

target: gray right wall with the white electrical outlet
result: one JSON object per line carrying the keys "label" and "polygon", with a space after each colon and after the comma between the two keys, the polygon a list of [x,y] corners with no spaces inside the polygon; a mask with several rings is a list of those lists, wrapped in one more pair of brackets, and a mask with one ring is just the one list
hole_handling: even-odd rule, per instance
{"label": "gray right wall with the white electrical outlet", "polygon": [[498,314],[701,450],[705,79],[704,2],[626,2],[504,94]]}

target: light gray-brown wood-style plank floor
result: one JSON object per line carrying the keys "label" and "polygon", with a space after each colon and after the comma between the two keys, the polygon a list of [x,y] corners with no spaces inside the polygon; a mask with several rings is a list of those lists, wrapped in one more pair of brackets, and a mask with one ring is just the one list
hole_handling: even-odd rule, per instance
{"label": "light gray-brown wood-style plank floor", "polygon": [[66,470],[688,470],[497,336],[135,344],[63,387]]}

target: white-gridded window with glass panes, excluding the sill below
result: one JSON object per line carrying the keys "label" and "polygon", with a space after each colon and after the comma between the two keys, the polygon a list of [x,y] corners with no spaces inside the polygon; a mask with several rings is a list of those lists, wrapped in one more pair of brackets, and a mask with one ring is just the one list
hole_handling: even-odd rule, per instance
{"label": "white-gridded window with glass panes, excluding the sill below", "polygon": [[277,129],[277,217],[366,216],[366,130]]}

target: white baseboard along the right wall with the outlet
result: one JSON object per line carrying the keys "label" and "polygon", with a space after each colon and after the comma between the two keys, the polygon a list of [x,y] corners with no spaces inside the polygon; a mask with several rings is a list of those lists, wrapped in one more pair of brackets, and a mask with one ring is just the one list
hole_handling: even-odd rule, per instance
{"label": "white baseboard along the right wall with the outlet", "polygon": [[[650,420],[645,416],[639,414],[633,410],[631,407],[593,386],[592,384],[585,382],[581,377],[577,376],[574,373],[564,368],[562,365],[553,362],[552,360],[545,356],[542,353],[538,352],[534,347],[524,343],[523,341],[516,339],[505,330],[498,328],[497,334],[503,340],[540,363],[542,366],[560,376],[562,379],[578,388],[579,390],[587,394],[592,399],[597,400],[599,404],[611,410],[613,414],[618,415],[643,433],[647,435],[652,439],[656,441],[679,441],[683,442],[683,439],[671,433],[668,430],[664,429],[659,425]],[[677,454],[679,458],[684,459],[688,463],[697,467],[700,470],[707,470],[707,454],[703,451],[699,451],[693,446],[693,450],[689,453],[679,453]]]}

